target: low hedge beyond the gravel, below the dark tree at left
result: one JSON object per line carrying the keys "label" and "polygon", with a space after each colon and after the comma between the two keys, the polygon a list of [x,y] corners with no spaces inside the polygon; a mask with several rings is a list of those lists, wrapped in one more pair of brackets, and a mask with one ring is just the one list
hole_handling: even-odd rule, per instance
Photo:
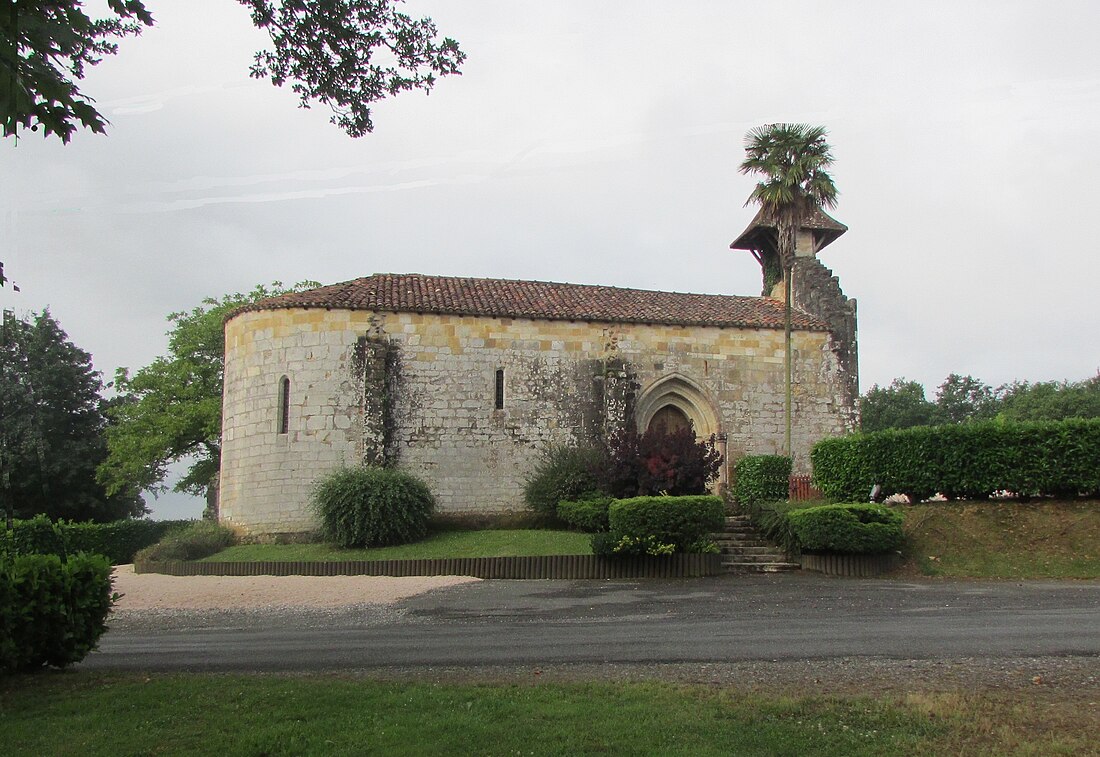
{"label": "low hedge beyond the gravel, below the dark tree at left", "polygon": [[114,520],[112,523],[54,523],[45,515],[15,520],[4,548],[13,555],[103,555],[112,564],[133,562],[134,555],[191,520]]}

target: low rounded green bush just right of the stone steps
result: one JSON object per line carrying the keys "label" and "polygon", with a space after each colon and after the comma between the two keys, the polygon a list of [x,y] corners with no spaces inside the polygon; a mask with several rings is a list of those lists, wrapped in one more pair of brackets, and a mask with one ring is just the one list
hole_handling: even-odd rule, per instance
{"label": "low rounded green bush just right of the stone steps", "polygon": [[901,547],[902,515],[882,505],[821,505],[787,515],[803,551],[879,555]]}

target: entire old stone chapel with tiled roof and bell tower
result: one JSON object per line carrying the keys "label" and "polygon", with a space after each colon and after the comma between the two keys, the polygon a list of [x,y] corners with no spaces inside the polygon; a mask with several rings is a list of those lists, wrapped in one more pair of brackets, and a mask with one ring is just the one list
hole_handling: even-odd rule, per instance
{"label": "entire old stone chapel with tiled roof and bell tower", "polygon": [[[817,253],[847,228],[816,211],[792,268],[792,457],[854,429],[856,303]],[[549,445],[691,421],[723,453],[782,453],[785,339],[774,223],[730,248],[760,297],[375,274],[245,306],[226,321],[219,513],[241,534],[316,525],[314,482],[396,464],[441,513],[524,508]],[[778,278],[777,278],[778,275]]]}

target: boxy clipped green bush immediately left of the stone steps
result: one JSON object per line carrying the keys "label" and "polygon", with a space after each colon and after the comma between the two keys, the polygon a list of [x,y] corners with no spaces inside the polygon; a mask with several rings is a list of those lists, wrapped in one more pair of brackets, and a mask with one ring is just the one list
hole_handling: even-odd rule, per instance
{"label": "boxy clipped green bush immediately left of the stone steps", "polygon": [[[711,495],[616,500],[607,514],[609,542],[620,544],[627,538],[642,546],[671,545],[676,552],[706,551],[710,535],[722,528],[725,517],[725,503]],[[596,551],[596,541],[593,541],[593,551]],[[647,551],[642,547],[641,553]]]}

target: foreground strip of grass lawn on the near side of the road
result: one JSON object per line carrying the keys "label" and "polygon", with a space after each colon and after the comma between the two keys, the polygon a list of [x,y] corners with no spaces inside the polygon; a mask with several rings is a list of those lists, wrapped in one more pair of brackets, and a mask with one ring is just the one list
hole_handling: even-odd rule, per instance
{"label": "foreground strip of grass lawn on the near side of the road", "polygon": [[[1093,709],[1094,710],[1094,709]],[[40,673],[0,681],[16,755],[1097,754],[1096,713],[1008,692],[782,696],[671,683]]]}

